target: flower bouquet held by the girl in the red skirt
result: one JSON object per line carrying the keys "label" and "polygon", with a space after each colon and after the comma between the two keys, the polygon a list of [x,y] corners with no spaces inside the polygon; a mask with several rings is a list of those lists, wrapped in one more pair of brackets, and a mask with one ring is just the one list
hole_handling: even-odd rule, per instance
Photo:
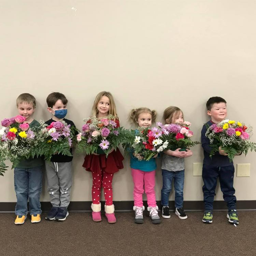
{"label": "flower bouquet held by the girl in the red skirt", "polygon": [[129,138],[129,131],[123,127],[118,127],[113,115],[108,115],[104,119],[92,116],[84,119],[86,122],[82,127],[82,132],[76,136],[77,152],[85,154],[105,154],[108,156],[112,148],[116,150],[119,144],[126,144]]}

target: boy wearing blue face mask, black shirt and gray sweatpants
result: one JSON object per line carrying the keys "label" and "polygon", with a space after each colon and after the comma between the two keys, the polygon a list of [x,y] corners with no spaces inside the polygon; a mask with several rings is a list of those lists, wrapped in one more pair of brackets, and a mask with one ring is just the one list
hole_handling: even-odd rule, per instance
{"label": "boy wearing blue face mask, black shirt and gray sweatpants", "polygon": [[[64,118],[67,115],[68,100],[61,93],[51,93],[46,99],[47,110],[53,117],[45,122],[50,125],[52,122],[65,121],[68,125],[75,127],[71,120]],[[70,148],[72,153],[72,148]],[[50,194],[52,209],[45,217],[48,220],[65,221],[70,202],[70,188],[72,185],[72,156],[55,154],[51,162],[45,162],[45,169],[48,182],[48,193]]]}

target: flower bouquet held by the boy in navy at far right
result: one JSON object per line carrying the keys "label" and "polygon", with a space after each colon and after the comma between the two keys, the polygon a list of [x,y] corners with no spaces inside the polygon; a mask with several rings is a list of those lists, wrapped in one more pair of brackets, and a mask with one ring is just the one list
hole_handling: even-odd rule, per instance
{"label": "flower bouquet held by the boy in navy at far right", "polygon": [[252,135],[252,127],[246,127],[244,123],[234,120],[223,120],[207,128],[205,136],[210,140],[212,151],[210,156],[219,152],[219,146],[228,154],[231,162],[240,152],[245,155],[249,150],[256,152],[256,143],[249,140]]}

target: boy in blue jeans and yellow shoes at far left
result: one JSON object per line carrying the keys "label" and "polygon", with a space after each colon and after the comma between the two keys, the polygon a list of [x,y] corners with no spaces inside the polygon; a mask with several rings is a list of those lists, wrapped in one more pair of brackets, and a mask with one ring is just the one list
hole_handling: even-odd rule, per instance
{"label": "boy in blue jeans and yellow shoes at far left", "polygon": [[[29,127],[40,125],[32,116],[36,106],[34,96],[28,93],[20,94],[16,100],[16,105],[19,115],[16,116],[13,122],[20,123],[19,128],[24,133]],[[23,224],[25,222],[27,218],[28,199],[31,223],[41,221],[40,195],[42,190],[43,165],[44,161],[41,157],[35,157],[20,161],[14,168],[14,188],[17,197],[15,207],[15,215],[17,217],[15,224]]]}

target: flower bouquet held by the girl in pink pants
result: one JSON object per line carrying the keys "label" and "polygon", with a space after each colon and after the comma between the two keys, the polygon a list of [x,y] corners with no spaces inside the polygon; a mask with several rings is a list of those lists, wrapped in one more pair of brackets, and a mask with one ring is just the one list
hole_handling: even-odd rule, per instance
{"label": "flower bouquet held by the girl in pink pants", "polygon": [[132,140],[126,146],[126,150],[134,152],[134,156],[138,160],[150,160],[157,153],[167,148],[169,144],[167,140],[163,142],[161,139],[162,132],[156,127],[152,129],[138,127],[136,130],[131,130],[130,132],[132,134]]}

